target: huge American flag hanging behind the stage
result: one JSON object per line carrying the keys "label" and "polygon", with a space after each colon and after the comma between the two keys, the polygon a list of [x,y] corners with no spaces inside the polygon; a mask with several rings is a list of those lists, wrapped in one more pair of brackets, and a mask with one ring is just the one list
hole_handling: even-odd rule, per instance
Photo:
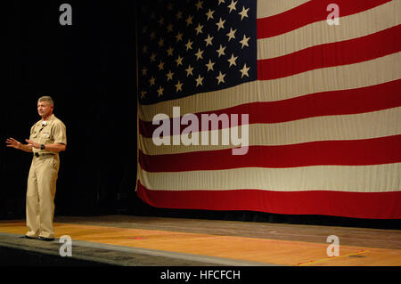
{"label": "huge American flag hanging behind the stage", "polygon": [[[401,217],[401,1],[336,0],[339,25],[327,20],[332,3],[143,1],[140,198],[154,207]],[[152,119],[163,113],[173,125],[174,107],[200,120],[249,114],[247,154],[233,156],[232,144],[155,145]]]}

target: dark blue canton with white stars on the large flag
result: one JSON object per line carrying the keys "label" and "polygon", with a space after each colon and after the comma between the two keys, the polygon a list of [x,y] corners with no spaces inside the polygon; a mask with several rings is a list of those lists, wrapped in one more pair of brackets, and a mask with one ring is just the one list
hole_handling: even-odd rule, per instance
{"label": "dark blue canton with white stars on the large flag", "polygon": [[139,11],[141,104],[257,79],[257,0],[148,0]]}

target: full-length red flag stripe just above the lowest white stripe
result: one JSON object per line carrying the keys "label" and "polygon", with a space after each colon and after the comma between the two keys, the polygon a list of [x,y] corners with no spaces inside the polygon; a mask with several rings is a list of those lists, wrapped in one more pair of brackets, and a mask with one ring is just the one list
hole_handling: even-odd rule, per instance
{"label": "full-length red flag stripe just above the lowest white stripe", "polygon": [[250,166],[366,166],[401,162],[400,145],[401,134],[364,140],[250,146],[246,155],[238,156],[233,156],[231,149],[154,156],[140,150],[139,163],[147,172],[222,170]]}

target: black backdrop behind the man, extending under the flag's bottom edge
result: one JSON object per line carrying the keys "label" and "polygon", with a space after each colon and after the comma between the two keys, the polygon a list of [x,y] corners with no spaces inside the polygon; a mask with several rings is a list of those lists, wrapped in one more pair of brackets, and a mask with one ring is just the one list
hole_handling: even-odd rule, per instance
{"label": "black backdrop behind the man, extending under the flag's bottom edge", "polygon": [[60,0],[0,4],[0,218],[24,218],[31,154],[5,140],[29,138],[37,99],[51,95],[67,126],[55,215],[160,215],[400,229],[399,220],[319,215],[173,210],[135,194],[136,50],[134,0],[69,0],[72,26],[61,26]]}

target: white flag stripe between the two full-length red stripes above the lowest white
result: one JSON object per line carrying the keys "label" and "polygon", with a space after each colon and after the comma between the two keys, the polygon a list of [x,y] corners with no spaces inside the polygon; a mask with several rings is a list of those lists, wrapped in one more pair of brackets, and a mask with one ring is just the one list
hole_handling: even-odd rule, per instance
{"label": "white flag stripe between the two full-length red stripes above the lowest white", "polygon": [[[252,114],[250,114],[251,116]],[[233,131],[236,127],[230,128]],[[200,127],[201,129],[201,127]],[[235,129],[236,130],[236,129]],[[222,137],[221,130],[217,131]],[[237,132],[241,137],[241,130]],[[401,134],[401,107],[353,115],[304,118],[274,124],[249,126],[249,145],[288,145],[303,142],[358,140]],[[201,137],[201,134],[199,135]],[[200,150],[221,150],[231,145],[156,146],[151,138],[139,136],[140,149],[148,155],[184,153]],[[200,142],[201,144],[201,142]]]}

